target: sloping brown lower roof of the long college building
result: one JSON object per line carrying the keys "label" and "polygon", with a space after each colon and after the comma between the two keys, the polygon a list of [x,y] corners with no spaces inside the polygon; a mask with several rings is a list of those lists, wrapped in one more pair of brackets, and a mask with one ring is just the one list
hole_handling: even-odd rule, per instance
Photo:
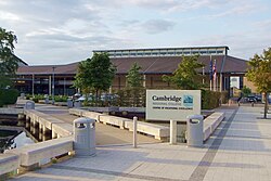
{"label": "sloping brown lower roof of the long college building", "polygon": [[[246,73],[247,61],[229,55],[211,55],[217,63],[217,73]],[[111,59],[117,67],[117,74],[127,74],[132,64],[137,62],[141,67],[142,74],[171,74],[178,64],[181,63],[181,56],[151,56],[151,57],[114,57]],[[201,55],[198,59],[205,67],[204,72],[209,73],[210,55]],[[77,73],[78,62],[66,65],[41,65],[41,66],[21,66],[17,75],[75,75]],[[199,69],[198,72],[203,72]]]}

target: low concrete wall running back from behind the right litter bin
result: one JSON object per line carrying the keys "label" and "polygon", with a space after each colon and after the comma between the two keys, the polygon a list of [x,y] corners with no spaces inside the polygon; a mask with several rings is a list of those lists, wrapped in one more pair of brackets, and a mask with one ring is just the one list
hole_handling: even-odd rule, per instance
{"label": "low concrete wall running back from behind the right litter bin", "polygon": [[215,132],[220,122],[224,119],[224,113],[212,113],[206,119],[204,119],[204,141]]}

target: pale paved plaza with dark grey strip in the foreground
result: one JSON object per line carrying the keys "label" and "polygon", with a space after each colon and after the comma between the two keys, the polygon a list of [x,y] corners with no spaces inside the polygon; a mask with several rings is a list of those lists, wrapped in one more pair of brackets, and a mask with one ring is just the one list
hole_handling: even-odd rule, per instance
{"label": "pale paved plaza with dark grey strip in the foreground", "polygon": [[[271,119],[262,107],[225,107],[225,119],[203,148],[169,143],[98,146],[93,157],[73,157],[12,180],[271,180]],[[269,115],[270,117],[270,115]]]}

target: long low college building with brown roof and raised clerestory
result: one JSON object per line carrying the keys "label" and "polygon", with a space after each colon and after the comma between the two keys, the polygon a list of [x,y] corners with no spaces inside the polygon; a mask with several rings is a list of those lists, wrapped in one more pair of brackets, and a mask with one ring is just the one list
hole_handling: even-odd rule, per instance
{"label": "long low college building with brown roof and raised clerestory", "polygon": [[[204,64],[198,73],[203,82],[215,91],[229,91],[233,81],[238,80],[237,88],[244,86],[247,61],[229,55],[228,47],[193,47],[193,48],[159,48],[159,49],[125,49],[94,50],[93,53],[107,52],[112,63],[117,67],[111,91],[126,87],[126,76],[133,63],[142,67],[143,86],[147,89],[167,89],[168,82],[162,80],[163,75],[172,75],[182,62],[182,56],[198,54]],[[212,62],[212,66],[210,66]],[[73,81],[79,62],[64,65],[24,64],[17,69],[15,87],[24,93],[72,95],[76,92]],[[216,80],[210,81],[210,72],[216,69]],[[232,77],[235,77],[233,79]],[[237,78],[237,79],[236,79]],[[211,86],[210,86],[211,82]]]}

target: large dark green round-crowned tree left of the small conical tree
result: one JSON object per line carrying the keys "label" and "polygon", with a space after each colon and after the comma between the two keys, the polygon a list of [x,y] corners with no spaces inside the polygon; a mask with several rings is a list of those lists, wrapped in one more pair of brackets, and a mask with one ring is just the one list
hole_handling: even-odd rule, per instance
{"label": "large dark green round-crowned tree left of the small conical tree", "polygon": [[116,74],[107,53],[94,53],[91,59],[79,63],[74,86],[81,90],[94,90],[96,100],[100,91],[107,91]]}

